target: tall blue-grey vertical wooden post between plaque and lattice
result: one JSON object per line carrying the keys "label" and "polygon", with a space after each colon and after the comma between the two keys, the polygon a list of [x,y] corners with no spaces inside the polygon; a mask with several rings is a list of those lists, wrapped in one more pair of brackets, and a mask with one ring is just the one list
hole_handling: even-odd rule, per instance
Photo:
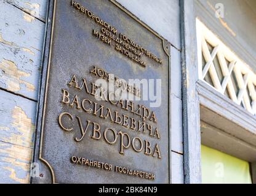
{"label": "tall blue-grey vertical wooden post between plaque and lattice", "polygon": [[196,91],[198,58],[193,4],[181,0],[182,94],[185,183],[201,183],[199,99]]}

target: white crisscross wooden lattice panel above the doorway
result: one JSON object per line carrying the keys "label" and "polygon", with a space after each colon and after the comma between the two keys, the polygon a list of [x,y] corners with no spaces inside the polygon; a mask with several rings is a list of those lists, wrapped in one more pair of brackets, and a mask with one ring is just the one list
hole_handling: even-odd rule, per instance
{"label": "white crisscross wooden lattice panel above the doorway", "polygon": [[245,62],[196,21],[199,79],[256,115],[256,75]]}

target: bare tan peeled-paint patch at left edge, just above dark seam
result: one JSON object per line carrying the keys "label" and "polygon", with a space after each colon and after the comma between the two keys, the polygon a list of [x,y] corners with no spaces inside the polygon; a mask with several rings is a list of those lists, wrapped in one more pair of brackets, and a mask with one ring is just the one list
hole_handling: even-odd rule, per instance
{"label": "bare tan peeled-paint patch at left edge, just above dark seam", "polygon": [[21,79],[22,77],[29,77],[30,74],[19,70],[13,61],[4,59],[0,62],[0,70],[3,72],[1,78],[6,82],[9,91],[20,91],[22,84],[26,86],[27,91],[35,91],[34,85]]}

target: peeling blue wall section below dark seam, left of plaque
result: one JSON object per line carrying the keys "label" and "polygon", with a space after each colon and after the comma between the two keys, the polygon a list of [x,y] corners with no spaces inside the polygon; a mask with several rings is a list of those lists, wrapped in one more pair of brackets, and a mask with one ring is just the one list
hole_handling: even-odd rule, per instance
{"label": "peeling blue wall section below dark seam, left of plaque", "polygon": [[36,102],[0,90],[0,183],[29,183]]}

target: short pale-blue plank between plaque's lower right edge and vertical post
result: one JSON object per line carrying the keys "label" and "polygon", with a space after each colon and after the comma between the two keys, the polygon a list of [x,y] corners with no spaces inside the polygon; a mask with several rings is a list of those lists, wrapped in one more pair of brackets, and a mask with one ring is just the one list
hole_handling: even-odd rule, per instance
{"label": "short pale-blue plank between plaque's lower right edge and vertical post", "polygon": [[172,184],[184,183],[184,170],[182,165],[182,154],[172,152]]}

